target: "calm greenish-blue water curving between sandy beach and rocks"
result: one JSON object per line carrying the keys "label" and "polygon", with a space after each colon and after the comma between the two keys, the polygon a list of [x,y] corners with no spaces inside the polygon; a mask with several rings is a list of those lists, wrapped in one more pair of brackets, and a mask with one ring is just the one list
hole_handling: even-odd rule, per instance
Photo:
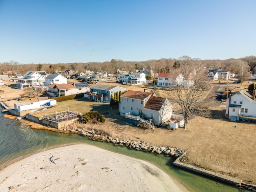
{"label": "calm greenish-blue water curving between sandy beach and rocks", "polygon": [[34,130],[18,124],[17,120],[4,118],[2,112],[0,112],[0,166],[28,154],[46,150],[47,148],[74,143],[91,144],[106,150],[151,162],[179,180],[190,191],[242,192],[241,189],[233,186],[228,186],[215,180],[209,180],[197,174],[172,167],[172,158],[169,157],[130,150],[126,147],[116,147],[112,144],[88,140],[87,138],[75,134]]}

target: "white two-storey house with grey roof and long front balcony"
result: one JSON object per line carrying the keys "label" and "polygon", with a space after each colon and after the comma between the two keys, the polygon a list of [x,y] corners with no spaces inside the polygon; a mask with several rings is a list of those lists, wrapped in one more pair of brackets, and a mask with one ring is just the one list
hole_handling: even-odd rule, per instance
{"label": "white two-storey house with grey roof and long front balcony", "polygon": [[125,85],[142,85],[146,84],[146,75],[144,73],[129,73],[120,74],[118,76],[118,82],[122,82]]}

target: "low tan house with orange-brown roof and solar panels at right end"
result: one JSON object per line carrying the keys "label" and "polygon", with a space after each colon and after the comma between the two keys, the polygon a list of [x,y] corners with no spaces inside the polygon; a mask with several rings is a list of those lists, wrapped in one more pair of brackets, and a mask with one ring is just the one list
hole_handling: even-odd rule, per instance
{"label": "low tan house with orange-brown roof and solar panels at right end", "polygon": [[68,96],[79,93],[85,93],[90,90],[88,83],[68,83],[56,84],[53,83],[48,86],[47,94],[53,97]]}

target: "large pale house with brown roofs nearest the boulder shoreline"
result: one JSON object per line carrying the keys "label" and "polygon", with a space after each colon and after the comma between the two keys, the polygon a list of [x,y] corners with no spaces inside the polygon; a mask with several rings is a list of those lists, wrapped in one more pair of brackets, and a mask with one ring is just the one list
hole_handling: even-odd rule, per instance
{"label": "large pale house with brown roofs nearest the boulder shoreline", "polygon": [[131,124],[160,125],[172,117],[172,104],[167,98],[151,92],[128,90],[120,96],[119,112]]}

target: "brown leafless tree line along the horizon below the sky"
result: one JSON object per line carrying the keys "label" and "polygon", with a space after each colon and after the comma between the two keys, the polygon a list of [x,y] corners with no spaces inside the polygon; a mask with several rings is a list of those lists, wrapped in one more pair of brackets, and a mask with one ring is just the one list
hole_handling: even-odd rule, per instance
{"label": "brown leafless tree line along the horizon below the sky", "polygon": [[[204,63],[204,66],[209,69],[218,68],[222,70],[230,70],[235,74],[241,73],[241,68],[244,70],[256,71],[256,56],[246,56],[239,59],[226,60],[201,60],[200,58],[191,58],[189,56],[180,56],[178,59],[162,58],[160,60],[147,61],[123,61],[115,60],[106,62],[75,62],[75,63],[58,63],[58,64],[20,64],[16,61],[0,63],[0,74],[3,70],[12,70],[14,74],[25,74],[28,71],[37,71],[38,69],[46,71],[47,73],[55,73],[56,71],[74,70],[78,72],[85,72],[90,70],[94,72],[107,72],[108,74],[115,74],[118,76],[118,71],[126,71],[128,73],[136,70],[147,69],[156,73],[169,73],[173,66],[186,64],[188,62]],[[40,68],[38,68],[40,66]]]}

